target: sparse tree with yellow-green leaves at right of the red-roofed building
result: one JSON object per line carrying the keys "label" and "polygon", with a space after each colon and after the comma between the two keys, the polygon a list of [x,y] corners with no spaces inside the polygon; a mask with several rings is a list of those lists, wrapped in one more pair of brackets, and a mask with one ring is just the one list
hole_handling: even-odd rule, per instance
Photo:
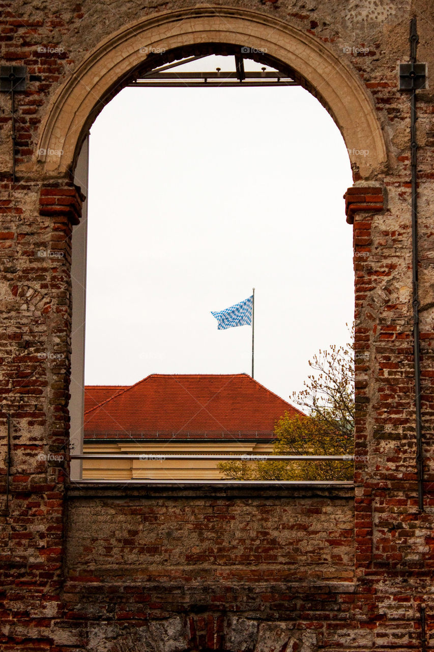
{"label": "sparse tree with yellow-green leaves at right of the red-roofed building", "polygon": [[[351,333],[353,336],[353,333]],[[354,452],[354,338],[332,345],[309,361],[313,373],[293,393],[305,416],[285,413],[276,423],[275,455],[352,455]],[[351,480],[350,461],[220,462],[226,479]]]}

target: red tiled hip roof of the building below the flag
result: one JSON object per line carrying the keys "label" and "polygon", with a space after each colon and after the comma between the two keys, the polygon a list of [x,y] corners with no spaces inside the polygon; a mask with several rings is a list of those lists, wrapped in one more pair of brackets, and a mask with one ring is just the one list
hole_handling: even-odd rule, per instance
{"label": "red tiled hip roof of the building below the flag", "polygon": [[303,415],[247,374],[151,374],[85,393],[102,400],[85,412],[86,439],[273,439],[285,412]]}

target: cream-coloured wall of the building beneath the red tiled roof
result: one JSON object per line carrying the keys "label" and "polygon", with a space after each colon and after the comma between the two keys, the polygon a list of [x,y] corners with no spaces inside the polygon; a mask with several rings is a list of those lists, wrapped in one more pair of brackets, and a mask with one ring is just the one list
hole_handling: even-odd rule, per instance
{"label": "cream-coloured wall of the building beneath the red tiled roof", "polygon": [[[166,455],[227,454],[261,456],[272,452],[272,444],[248,442],[176,443],[85,443],[85,453],[149,454],[150,460],[83,460],[83,479],[100,480],[220,480],[218,460],[168,460]],[[158,459],[161,458],[161,459]],[[251,462],[254,464],[254,460]]]}

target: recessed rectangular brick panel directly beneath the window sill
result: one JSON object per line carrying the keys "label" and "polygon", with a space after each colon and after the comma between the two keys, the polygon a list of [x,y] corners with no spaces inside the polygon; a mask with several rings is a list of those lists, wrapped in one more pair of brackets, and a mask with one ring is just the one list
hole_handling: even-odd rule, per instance
{"label": "recessed rectangular brick panel directly beneath the window sill", "polygon": [[353,580],[353,491],[214,499],[181,488],[175,497],[112,492],[70,493],[70,582]]}

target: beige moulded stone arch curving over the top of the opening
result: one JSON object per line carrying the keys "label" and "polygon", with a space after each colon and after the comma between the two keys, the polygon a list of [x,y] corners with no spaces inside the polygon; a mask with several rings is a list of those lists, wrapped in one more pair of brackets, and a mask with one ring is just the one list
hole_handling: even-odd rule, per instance
{"label": "beige moulded stone arch curving over the top of the opening", "polygon": [[[102,41],[57,91],[42,125],[37,165],[46,178],[74,170],[85,133],[104,104],[143,66],[144,50],[231,43],[267,52],[315,89],[334,117],[356,179],[384,172],[386,145],[375,108],[360,79],[317,38],[266,14],[212,7],[164,12],[126,25]],[[360,156],[360,151],[367,154]],[[53,154],[51,154],[53,153]]]}

